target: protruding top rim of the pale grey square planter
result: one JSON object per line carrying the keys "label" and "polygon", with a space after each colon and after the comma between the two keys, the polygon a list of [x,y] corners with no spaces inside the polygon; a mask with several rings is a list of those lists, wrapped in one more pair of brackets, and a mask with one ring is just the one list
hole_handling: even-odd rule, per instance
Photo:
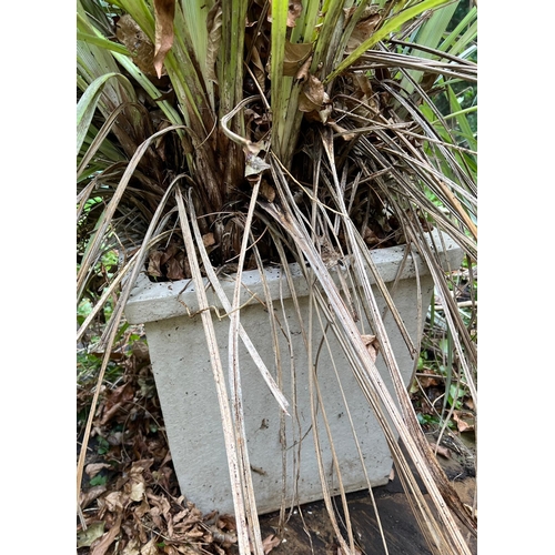
{"label": "protruding top rim of the pale grey square planter", "polygon": [[[456,265],[461,258],[461,246],[444,232],[433,230],[427,233],[428,243],[435,244],[442,256],[444,268]],[[442,246],[444,250],[441,250]],[[398,268],[401,266],[406,245],[390,246],[386,249],[376,249],[370,251],[370,255],[384,282],[394,281],[397,278]],[[418,270],[418,272],[416,272]],[[293,284],[297,296],[309,294],[309,284],[304,279],[301,266],[297,263],[290,264],[290,271],[293,278]],[[344,271],[341,265],[331,269],[331,274],[334,281],[339,284],[340,276],[337,272]],[[427,265],[424,263],[420,254],[413,249],[412,256],[407,256],[403,270],[400,274],[401,280],[406,280],[418,275],[430,273]],[[268,286],[273,299],[289,299],[292,296],[287,281],[282,272],[281,265],[268,266],[264,269],[264,275]],[[371,284],[375,283],[374,276],[369,272]],[[208,285],[208,279],[204,279]],[[244,271],[242,274],[243,289],[241,292],[241,306],[245,304],[260,303],[264,299],[263,283],[259,270]],[[222,278],[221,285],[228,297],[233,297],[235,287],[234,274]],[[215,306],[221,314],[223,307],[209,287],[206,296],[210,306]],[[151,282],[144,271],[142,271],[130,293],[129,301],[125,305],[125,317],[131,324],[143,324],[158,320],[178,317],[184,315],[193,315],[198,311],[198,300],[192,280],[180,280],[174,282]]]}

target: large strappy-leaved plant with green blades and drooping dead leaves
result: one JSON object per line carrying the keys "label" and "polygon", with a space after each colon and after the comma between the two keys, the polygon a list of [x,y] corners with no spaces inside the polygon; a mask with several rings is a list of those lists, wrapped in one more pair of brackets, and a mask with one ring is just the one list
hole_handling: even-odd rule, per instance
{"label": "large strappy-leaved plant with green blades and drooping dead leaves", "polygon": [[[468,553],[453,514],[472,532],[475,522],[421,432],[364,268],[372,269],[373,248],[406,243],[421,254],[451,331],[457,377],[477,408],[475,343],[440,249],[426,241],[437,228],[470,262],[477,258],[476,138],[467,119],[475,108],[462,109],[454,92],[458,83],[476,81],[476,8],[446,31],[458,3],[78,0],[77,26],[77,289],[78,301],[95,301],[78,339],[115,299],[100,340],[107,354],[99,384],[139,272],[190,278],[198,285],[208,279],[218,291],[213,268],[236,272],[239,284],[244,270],[299,262],[316,278],[314,303],[325,307],[326,325],[341,337],[380,415],[431,549],[443,554]],[[448,104],[443,113],[440,95]],[[113,250],[120,269],[99,292],[99,265]],[[366,317],[392,373],[395,401],[330,278],[331,266],[347,259],[353,291],[371,307]],[[383,280],[374,279],[402,327]],[[195,289],[202,306],[203,287]],[[235,293],[229,311],[233,349],[239,286]],[[202,319],[210,341],[210,311]],[[418,345],[412,350],[417,357]],[[223,376],[221,363],[213,364]],[[246,442],[239,441],[242,415],[228,401],[240,392],[230,384],[229,393],[223,382],[230,467],[248,467],[241,448]],[[254,553],[262,553],[248,477],[238,471],[232,478],[240,551],[250,553],[250,535]],[[335,522],[329,497],[326,503]],[[336,531],[343,551],[354,553],[352,534],[345,541]]]}

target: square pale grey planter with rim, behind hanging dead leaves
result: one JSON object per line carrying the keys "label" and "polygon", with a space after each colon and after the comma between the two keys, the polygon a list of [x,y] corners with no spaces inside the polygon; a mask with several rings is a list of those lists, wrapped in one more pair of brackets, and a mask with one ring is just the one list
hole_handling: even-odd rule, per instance
{"label": "square pale grey planter with rim, behind hanging dead leaves", "polygon": [[[438,233],[434,231],[433,234],[435,244],[440,248],[442,243]],[[445,244],[445,251],[442,253],[444,268],[458,268],[463,256],[462,250],[445,234],[443,234],[443,241]],[[371,253],[389,286],[395,280],[402,264],[404,249],[404,246],[395,246]],[[393,300],[413,342],[416,342],[423,326],[423,322],[418,322],[418,305],[425,317],[434,289],[432,276],[424,262],[417,255],[415,259],[416,265],[412,258],[406,259],[402,279],[397,282],[393,294]],[[416,290],[415,268],[420,271],[420,297]],[[301,296],[300,292],[306,291],[304,278],[296,264],[292,264],[291,270],[295,286],[299,285],[297,295]],[[370,274],[369,278],[372,281]],[[287,504],[293,502],[303,504],[323,497],[312,436],[307,354],[303,335],[283,273],[278,268],[270,268],[266,270],[266,279],[272,294],[275,293],[275,316],[282,329],[289,330],[291,337],[289,341],[283,333],[279,337],[283,369],[282,391],[290,402],[291,416],[284,416],[285,444],[282,445],[281,410],[240,340],[245,430],[260,514],[278,509],[283,492],[285,492]],[[269,313],[259,301],[252,297],[252,294],[256,293],[259,299],[264,299],[260,274],[258,271],[244,272],[242,281],[245,285],[242,304],[246,303],[246,305],[241,309],[241,323],[275,377],[275,347],[270,333]],[[234,289],[232,276],[223,283],[223,289],[231,301]],[[375,290],[374,292],[376,293]],[[225,311],[218,297],[210,289],[206,293],[209,304],[216,306],[220,314],[223,314]],[[376,299],[380,303],[377,293]],[[383,305],[384,303],[381,302],[381,306]],[[152,369],[181,492],[203,512],[218,509],[221,513],[233,513],[220,408],[206,340],[200,315],[190,316],[185,306],[190,314],[196,312],[196,294],[189,280],[152,283],[147,275],[141,274],[131,293],[125,315],[129,322],[143,323],[145,326]],[[300,299],[300,306],[307,314],[307,297]],[[307,321],[307,316],[303,316],[303,320]],[[229,319],[223,317],[220,321],[213,317],[213,322],[221,360],[225,365]],[[385,326],[404,383],[408,386],[414,361],[391,314],[385,316]],[[363,333],[372,333],[367,323]],[[313,360],[317,353],[316,375],[322,406],[339,458],[343,486],[346,492],[366,488],[365,473],[372,486],[383,485],[389,481],[393,463],[387,443],[349,362],[342,355],[333,332],[326,334],[326,340],[330,349],[323,344],[319,351],[322,344],[322,331],[320,327],[313,329]],[[339,387],[330,352],[333,354],[344,397]],[[393,394],[391,377],[380,355],[376,365]],[[362,467],[343,398],[347,400],[365,471]],[[293,412],[294,405],[296,406],[295,413]],[[339,492],[337,476],[333,470],[330,443],[322,418],[322,406],[319,406],[317,411],[321,454],[330,493],[333,495]]]}

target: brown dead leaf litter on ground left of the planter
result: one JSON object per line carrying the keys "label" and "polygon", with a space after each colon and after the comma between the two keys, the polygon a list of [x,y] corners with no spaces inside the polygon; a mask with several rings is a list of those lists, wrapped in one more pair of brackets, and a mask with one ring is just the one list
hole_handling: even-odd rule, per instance
{"label": "brown dead leaf litter on ground left of the planter", "polygon": [[[234,517],[203,515],[179,491],[145,346],[129,346],[121,376],[101,393],[80,492],[78,555],[236,553]],[[78,414],[90,407],[92,382],[80,387]],[[104,483],[94,485],[99,478]],[[266,553],[278,543],[269,537]]]}

